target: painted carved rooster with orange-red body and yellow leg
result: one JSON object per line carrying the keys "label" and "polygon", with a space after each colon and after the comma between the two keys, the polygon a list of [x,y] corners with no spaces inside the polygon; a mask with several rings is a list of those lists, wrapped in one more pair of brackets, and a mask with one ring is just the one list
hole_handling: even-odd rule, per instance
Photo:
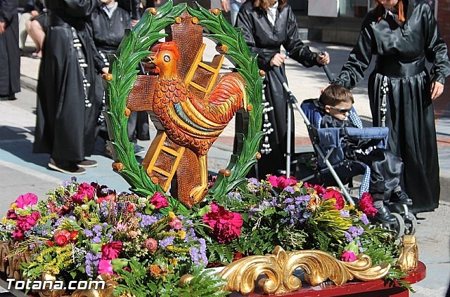
{"label": "painted carved rooster with orange-red body and yellow leg", "polygon": [[207,152],[239,108],[246,109],[245,84],[239,74],[225,74],[206,98],[199,98],[177,73],[176,62],[180,56],[174,42],[156,44],[151,51],[150,61],[159,74],[153,112],[174,143],[195,152],[200,166],[200,185],[194,187],[189,196],[199,202],[207,190]]}

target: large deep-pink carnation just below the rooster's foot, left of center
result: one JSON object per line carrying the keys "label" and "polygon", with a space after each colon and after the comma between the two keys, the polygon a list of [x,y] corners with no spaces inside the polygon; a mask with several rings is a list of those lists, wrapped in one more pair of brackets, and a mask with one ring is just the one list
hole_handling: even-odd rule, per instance
{"label": "large deep-pink carnation just below the rooster's foot, left of center", "polygon": [[240,213],[227,211],[224,206],[218,206],[215,203],[211,205],[211,211],[203,216],[203,223],[210,225],[212,233],[221,244],[231,242],[239,237],[243,225]]}

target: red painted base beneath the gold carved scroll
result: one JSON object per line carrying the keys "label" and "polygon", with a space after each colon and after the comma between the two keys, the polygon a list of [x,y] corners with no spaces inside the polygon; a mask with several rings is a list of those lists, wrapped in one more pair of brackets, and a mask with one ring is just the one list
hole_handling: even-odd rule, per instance
{"label": "red painted base beneath the gold carved scroll", "polygon": [[[409,282],[409,284],[415,284],[420,282],[426,277],[426,267],[425,264],[419,261],[416,270],[409,272],[408,276],[405,277],[404,281]],[[267,296],[258,293],[251,293],[249,296]],[[275,295],[274,295],[275,296]],[[309,288],[301,288],[298,291],[286,294],[277,294],[277,297],[331,297],[331,296],[346,296],[346,297],[408,297],[409,291],[403,289],[394,284],[387,284],[383,279],[376,280],[373,282],[349,282],[344,286],[335,286],[324,284],[322,286],[314,286]]]}

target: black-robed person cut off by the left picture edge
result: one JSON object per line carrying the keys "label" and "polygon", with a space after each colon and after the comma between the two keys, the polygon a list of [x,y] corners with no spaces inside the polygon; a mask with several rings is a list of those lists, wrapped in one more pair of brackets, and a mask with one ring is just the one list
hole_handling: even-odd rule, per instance
{"label": "black-robed person cut off by the left picture edge", "polygon": [[0,98],[20,92],[19,18],[17,1],[0,0]]}

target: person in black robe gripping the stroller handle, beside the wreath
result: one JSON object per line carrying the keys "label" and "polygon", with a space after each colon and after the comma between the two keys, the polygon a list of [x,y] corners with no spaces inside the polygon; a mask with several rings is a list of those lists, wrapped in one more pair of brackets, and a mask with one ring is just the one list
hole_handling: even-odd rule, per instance
{"label": "person in black robe gripping the stroller handle, beside the wreath", "polygon": [[[318,55],[305,46],[298,34],[297,22],[292,8],[286,0],[252,0],[240,8],[236,27],[242,28],[244,40],[252,54],[258,55],[258,67],[264,70],[264,97],[269,107],[264,117],[266,121],[263,131],[262,157],[249,176],[266,178],[267,174],[277,175],[285,170],[286,137],[287,137],[287,102],[288,93],[274,73],[274,67],[280,67],[285,76],[285,55],[281,54],[281,46],[290,53],[290,58],[305,67],[326,65],[330,58],[328,53]],[[240,123],[236,121],[236,126]],[[292,136],[294,139],[294,123]],[[271,131],[273,129],[273,131]],[[236,146],[235,146],[236,147]],[[294,152],[294,141],[291,143]]]}

